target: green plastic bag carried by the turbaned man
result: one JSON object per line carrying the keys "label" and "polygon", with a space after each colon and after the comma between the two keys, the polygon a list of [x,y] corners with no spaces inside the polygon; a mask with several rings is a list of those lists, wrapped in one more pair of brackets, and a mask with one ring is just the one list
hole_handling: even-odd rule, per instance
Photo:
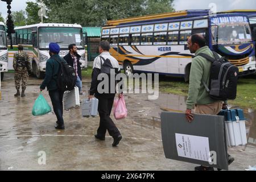
{"label": "green plastic bag carried by the turbaned man", "polygon": [[51,106],[49,106],[49,104],[46,101],[46,99],[44,98],[44,96],[42,94],[40,94],[39,97],[35,101],[35,104],[32,109],[32,114],[34,116],[44,115],[51,111],[52,111]]}

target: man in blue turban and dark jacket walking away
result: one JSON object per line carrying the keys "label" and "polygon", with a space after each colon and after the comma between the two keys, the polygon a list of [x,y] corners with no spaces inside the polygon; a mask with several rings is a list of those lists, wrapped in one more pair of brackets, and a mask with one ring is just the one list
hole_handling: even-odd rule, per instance
{"label": "man in blue turban and dark jacket walking away", "polygon": [[60,46],[56,43],[49,44],[49,55],[50,59],[46,62],[46,77],[42,85],[40,86],[40,91],[44,89],[49,91],[49,96],[51,97],[52,106],[54,113],[57,117],[57,125],[55,129],[64,130],[64,120],[63,120],[63,94],[64,92],[58,88],[57,79],[60,72],[60,64],[57,62],[65,61],[59,56]]}

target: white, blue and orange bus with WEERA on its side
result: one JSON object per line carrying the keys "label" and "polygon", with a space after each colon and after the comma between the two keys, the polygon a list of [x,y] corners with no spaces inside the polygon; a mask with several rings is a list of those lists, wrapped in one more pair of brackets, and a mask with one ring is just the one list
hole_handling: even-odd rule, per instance
{"label": "white, blue and orange bus with WEERA on its side", "polygon": [[236,65],[240,76],[255,73],[255,42],[246,15],[186,10],[110,20],[101,40],[110,42],[110,53],[126,75],[159,73],[187,81],[195,56],[187,47],[192,34],[204,35],[207,46]]}

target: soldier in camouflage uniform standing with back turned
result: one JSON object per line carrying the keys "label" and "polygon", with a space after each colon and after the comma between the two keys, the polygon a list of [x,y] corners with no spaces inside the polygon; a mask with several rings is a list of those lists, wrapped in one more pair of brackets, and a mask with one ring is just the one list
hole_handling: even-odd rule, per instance
{"label": "soldier in camouflage uniform standing with back turned", "polygon": [[14,80],[17,93],[15,97],[20,96],[20,80],[22,80],[22,97],[25,97],[25,90],[27,87],[28,74],[30,74],[30,61],[27,53],[23,52],[23,46],[18,46],[18,53],[14,54],[13,59]]}

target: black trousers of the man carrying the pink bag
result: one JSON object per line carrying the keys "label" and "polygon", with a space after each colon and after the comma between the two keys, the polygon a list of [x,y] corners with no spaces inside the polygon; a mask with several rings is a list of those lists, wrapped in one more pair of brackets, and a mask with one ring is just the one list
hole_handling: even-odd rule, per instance
{"label": "black trousers of the man carrying the pink bag", "polygon": [[118,137],[120,134],[117,126],[110,118],[112,106],[114,102],[113,98],[99,98],[98,99],[98,113],[100,114],[100,126],[97,130],[97,135],[99,137],[105,137],[106,130],[108,130],[109,135],[112,137]]}

